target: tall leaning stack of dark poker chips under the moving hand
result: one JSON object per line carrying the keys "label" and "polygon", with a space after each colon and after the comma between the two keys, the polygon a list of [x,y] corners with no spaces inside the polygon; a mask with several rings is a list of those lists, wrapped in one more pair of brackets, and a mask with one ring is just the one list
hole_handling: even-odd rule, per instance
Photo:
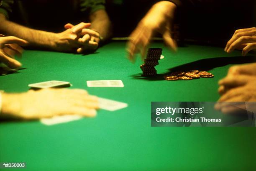
{"label": "tall leaning stack of dark poker chips under the moving hand", "polygon": [[156,76],[155,66],[158,65],[158,61],[161,58],[162,49],[161,48],[149,48],[147,57],[144,59],[144,64],[141,65],[142,76],[151,77]]}

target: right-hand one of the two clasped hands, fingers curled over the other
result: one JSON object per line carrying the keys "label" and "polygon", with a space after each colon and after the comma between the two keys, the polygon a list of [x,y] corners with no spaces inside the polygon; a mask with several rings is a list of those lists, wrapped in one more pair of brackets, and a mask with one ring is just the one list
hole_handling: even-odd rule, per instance
{"label": "right-hand one of the two clasped hands, fingers curled over the other", "polygon": [[99,46],[100,34],[94,30],[89,29],[90,23],[79,23],[72,25],[67,23],[64,28],[71,30],[73,34],[76,34],[75,40],[78,41],[79,47],[76,47],[77,53],[82,53],[86,50],[94,51]]}

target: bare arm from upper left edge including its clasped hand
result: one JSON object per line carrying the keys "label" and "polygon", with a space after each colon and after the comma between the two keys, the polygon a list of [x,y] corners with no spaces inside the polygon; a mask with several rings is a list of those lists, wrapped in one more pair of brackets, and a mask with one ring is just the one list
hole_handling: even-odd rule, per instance
{"label": "bare arm from upper left edge including its clasped hand", "polygon": [[61,33],[35,30],[7,20],[5,15],[1,13],[0,23],[1,33],[22,38],[28,41],[30,46],[45,47],[54,51],[74,51],[74,49],[87,45],[83,41],[78,40],[81,34],[95,36],[94,33],[90,33],[87,31],[88,29],[86,29],[91,26],[90,23],[82,23],[85,33],[73,33],[70,28]]}

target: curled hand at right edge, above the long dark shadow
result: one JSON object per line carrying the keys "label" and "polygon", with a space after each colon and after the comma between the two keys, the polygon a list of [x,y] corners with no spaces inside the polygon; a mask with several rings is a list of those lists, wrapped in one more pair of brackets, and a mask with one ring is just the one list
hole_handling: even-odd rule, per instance
{"label": "curled hand at right edge, above the long dark shadow", "polygon": [[243,50],[243,56],[245,56],[249,51],[256,49],[255,27],[244,28],[235,31],[224,50],[228,53],[231,53],[235,49]]}

